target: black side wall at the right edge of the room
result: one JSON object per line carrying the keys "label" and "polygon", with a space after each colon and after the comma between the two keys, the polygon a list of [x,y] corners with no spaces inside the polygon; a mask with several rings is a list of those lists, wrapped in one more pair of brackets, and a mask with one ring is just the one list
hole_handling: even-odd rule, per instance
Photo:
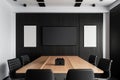
{"label": "black side wall at the right edge of the room", "polygon": [[110,11],[110,58],[112,76],[120,79],[120,5]]}

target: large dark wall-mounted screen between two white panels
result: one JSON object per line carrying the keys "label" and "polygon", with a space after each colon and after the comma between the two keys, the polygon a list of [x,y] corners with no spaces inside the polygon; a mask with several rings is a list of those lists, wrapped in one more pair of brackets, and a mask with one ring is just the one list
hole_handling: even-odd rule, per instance
{"label": "large dark wall-mounted screen between two white panels", "polygon": [[43,27],[43,45],[76,45],[77,27]]}

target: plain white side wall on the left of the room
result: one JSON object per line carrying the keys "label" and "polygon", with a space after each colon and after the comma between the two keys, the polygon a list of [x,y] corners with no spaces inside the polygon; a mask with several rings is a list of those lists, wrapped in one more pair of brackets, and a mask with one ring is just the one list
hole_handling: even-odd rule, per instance
{"label": "plain white side wall on the left of the room", "polygon": [[13,44],[14,13],[5,0],[0,2],[0,80],[8,76],[7,60],[15,57]]}

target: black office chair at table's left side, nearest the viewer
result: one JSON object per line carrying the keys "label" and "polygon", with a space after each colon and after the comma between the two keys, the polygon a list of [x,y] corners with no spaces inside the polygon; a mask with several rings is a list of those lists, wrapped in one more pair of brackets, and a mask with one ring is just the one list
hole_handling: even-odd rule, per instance
{"label": "black office chair at table's left side, nearest the viewer", "polygon": [[22,67],[19,58],[8,60],[8,67],[9,67],[9,76],[11,79],[23,80],[23,76],[21,74],[16,74],[16,70]]}

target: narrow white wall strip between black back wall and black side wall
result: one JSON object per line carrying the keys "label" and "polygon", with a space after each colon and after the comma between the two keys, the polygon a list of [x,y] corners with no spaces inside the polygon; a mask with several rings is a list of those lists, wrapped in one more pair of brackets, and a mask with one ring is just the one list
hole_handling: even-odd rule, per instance
{"label": "narrow white wall strip between black back wall and black side wall", "polygon": [[103,14],[103,58],[110,58],[110,14]]}

